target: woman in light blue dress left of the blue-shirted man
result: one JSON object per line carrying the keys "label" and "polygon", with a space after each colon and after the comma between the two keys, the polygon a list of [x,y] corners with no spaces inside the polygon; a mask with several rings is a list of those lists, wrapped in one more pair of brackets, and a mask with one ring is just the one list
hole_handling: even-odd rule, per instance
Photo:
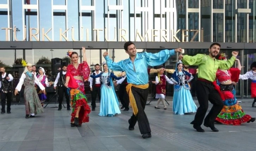
{"label": "woman in light blue dress left of the blue-shirted man", "polygon": [[113,87],[112,77],[116,80],[119,80],[122,77],[117,77],[113,73],[110,73],[106,62],[103,62],[102,65],[104,72],[101,72],[96,76],[91,75],[91,77],[100,77],[100,82],[102,83],[100,88],[101,97],[99,116],[112,117],[121,113],[119,109],[119,102]]}

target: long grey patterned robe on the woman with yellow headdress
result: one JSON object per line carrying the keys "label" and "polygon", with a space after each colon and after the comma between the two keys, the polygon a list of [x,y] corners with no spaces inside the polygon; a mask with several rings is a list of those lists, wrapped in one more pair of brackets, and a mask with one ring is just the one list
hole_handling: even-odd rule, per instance
{"label": "long grey patterned robe on the woman with yellow headdress", "polygon": [[34,81],[35,78],[33,75],[29,75],[25,73],[26,77],[24,79],[24,99],[25,99],[25,107],[26,107],[26,114],[32,113],[43,113],[43,107],[40,103],[39,97],[37,95]]}

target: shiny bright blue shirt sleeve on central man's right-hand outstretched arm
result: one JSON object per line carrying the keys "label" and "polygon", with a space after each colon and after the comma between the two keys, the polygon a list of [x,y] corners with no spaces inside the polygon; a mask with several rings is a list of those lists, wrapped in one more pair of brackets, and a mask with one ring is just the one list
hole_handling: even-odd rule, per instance
{"label": "shiny bright blue shirt sleeve on central man's right-hand outstretched arm", "polygon": [[146,56],[146,60],[147,60],[147,64],[150,66],[156,66],[159,64],[163,64],[165,63],[170,56],[175,55],[175,50],[161,50],[158,53],[152,54],[152,53],[148,53],[148,52],[144,52],[143,55]]}

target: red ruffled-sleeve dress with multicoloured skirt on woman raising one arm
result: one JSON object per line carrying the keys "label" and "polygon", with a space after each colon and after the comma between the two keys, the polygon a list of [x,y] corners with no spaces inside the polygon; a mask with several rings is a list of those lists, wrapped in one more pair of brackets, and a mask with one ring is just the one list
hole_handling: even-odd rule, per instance
{"label": "red ruffled-sleeve dress with multicoloured skirt on woman raising one arm", "polygon": [[77,113],[77,109],[81,106],[79,112],[79,125],[85,122],[89,122],[89,113],[91,109],[87,104],[87,98],[85,96],[85,89],[84,89],[84,81],[77,80],[74,76],[83,76],[84,80],[88,79],[90,76],[90,68],[87,62],[83,61],[78,65],[78,68],[72,64],[69,64],[67,67],[67,74],[66,76],[70,77],[68,82],[68,88],[70,89],[70,100],[71,100],[71,107],[73,108],[71,113],[71,122],[75,119],[75,114]]}

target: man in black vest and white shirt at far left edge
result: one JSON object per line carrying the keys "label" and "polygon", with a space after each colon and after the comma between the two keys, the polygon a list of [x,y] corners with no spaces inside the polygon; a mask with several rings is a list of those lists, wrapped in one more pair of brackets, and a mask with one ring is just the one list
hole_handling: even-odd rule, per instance
{"label": "man in black vest and white shirt at far left edge", "polygon": [[1,114],[5,113],[5,98],[7,99],[7,113],[11,113],[11,102],[12,102],[12,86],[11,81],[13,77],[11,74],[5,72],[5,67],[0,67],[0,94],[1,94]]}

